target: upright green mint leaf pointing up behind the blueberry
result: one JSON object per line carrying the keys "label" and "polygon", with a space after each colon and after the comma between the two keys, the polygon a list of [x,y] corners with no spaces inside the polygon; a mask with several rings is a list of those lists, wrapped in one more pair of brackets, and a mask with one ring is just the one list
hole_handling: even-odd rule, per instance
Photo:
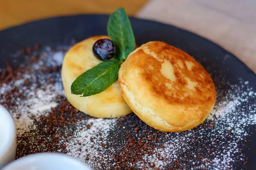
{"label": "upright green mint leaf pointing up behind the blueberry", "polygon": [[115,59],[125,60],[135,49],[131,23],[124,8],[118,8],[108,19],[108,36],[116,45]]}

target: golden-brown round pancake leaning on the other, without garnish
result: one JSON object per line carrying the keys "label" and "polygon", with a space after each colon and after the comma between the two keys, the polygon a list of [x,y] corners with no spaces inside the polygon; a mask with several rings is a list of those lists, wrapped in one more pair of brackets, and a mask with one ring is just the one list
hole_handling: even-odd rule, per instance
{"label": "golden-brown round pancake leaning on the other, without garnish", "polygon": [[165,42],[137,48],[119,69],[119,86],[131,110],[157,130],[180,132],[204,122],[216,100],[203,66]]}

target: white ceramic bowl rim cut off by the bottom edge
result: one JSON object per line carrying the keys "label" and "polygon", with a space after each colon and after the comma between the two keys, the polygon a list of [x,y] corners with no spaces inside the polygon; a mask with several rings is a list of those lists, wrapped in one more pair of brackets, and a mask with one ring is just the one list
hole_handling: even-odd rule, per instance
{"label": "white ceramic bowl rim cut off by the bottom edge", "polygon": [[86,164],[60,153],[36,153],[24,156],[2,170],[91,170]]}

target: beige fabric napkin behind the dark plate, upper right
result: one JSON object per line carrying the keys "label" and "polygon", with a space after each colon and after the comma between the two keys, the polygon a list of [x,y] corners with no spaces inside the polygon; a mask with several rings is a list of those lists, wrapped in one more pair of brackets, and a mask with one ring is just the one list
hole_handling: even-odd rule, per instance
{"label": "beige fabric napkin behind the dark plate, upper right", "polygon": [[256,0],[150,0],[137,17],[201,35],[256,73]]}

